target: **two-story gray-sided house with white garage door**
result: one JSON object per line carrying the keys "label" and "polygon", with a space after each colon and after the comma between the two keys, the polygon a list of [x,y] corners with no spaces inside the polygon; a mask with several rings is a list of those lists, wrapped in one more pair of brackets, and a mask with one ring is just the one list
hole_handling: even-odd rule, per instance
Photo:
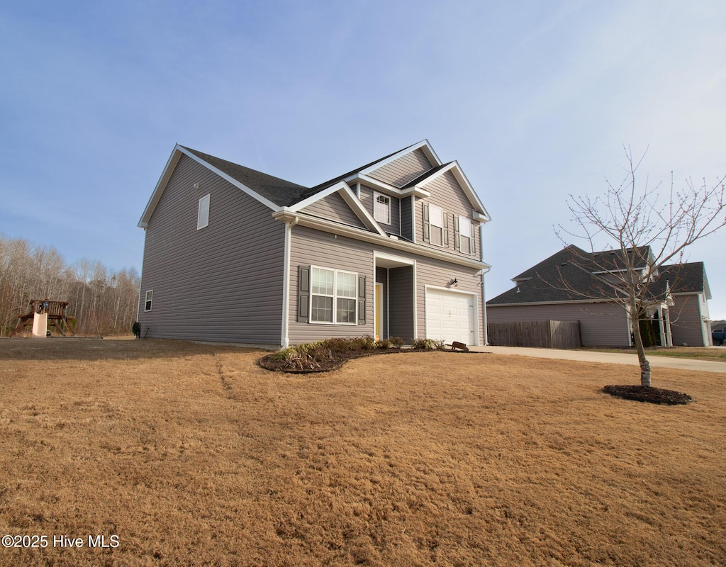
{"label": "two-story gray-sided house with white garage door", "polygon": [[426,140],[315,187],[176,145],[139,221],[142,337],[485,344],[486,221]]}

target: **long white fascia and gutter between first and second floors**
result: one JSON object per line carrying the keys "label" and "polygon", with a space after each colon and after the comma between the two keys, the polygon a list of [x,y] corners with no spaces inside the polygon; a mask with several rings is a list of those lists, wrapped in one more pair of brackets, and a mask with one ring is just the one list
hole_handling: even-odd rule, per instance
{"label": "long white fascia and gutter between first and second floors", "polygon": [[385,234],[378,234],[376,232],[368,232],[363,229],[356,229],[355,227],[348,227],[345,224],[326,221],[325,219],[319,219],[316,216],[309,216],[305,213],[295,213],[294,211],[290,211],[289,208],[282,208],[280,211],[272,213],[272,217],[278,221],[296,222],[298,226],[301,227],[322,230],[324,232],[330,232],[331,234],[349,237],[354,240],[370,242],[371,244],[380,244],[386,248],[401,250],[415,256],[434,258],[436,260],[449,262],[450,264],[459,264],[460,266],[467,266],[469,268],[476,269],[488,269],[492,267],[489,264],[486,264],[486,262],[474,260],[473,258],[454,256],[453,254],[413,244],[406,240],[394,240]]}

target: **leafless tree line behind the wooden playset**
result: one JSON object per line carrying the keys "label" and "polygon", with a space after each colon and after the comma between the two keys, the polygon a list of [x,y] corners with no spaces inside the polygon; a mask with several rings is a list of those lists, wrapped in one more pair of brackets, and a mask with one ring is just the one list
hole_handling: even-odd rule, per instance
{"label": "leafless tree line behind the wooden playset", "polygon": [[77,334],[129,334],[140,287],[134,268],[114,272],[86,259],[68,265],[55,248],[0,234],[0,337],[12,333],[32,299],[68,301]]}

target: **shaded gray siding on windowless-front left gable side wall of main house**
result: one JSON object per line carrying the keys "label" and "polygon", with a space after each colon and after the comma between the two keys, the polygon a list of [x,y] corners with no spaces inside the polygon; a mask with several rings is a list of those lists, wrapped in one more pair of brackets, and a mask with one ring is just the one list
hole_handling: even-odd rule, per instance
{"label": "shaded gray siding on windowless-front left gable side wall of main house", "polygon": [[[205,195],[209,224],[197,230]],[[146,229],[142,336],[280,344],[285,225],[270,213],[182,156]],[[151,311],[144,311],[147,290]]]}

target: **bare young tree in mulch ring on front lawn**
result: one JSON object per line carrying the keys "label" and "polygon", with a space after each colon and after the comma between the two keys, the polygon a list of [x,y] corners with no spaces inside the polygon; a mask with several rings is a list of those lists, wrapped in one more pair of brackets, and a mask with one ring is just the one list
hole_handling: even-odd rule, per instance
{"label": "bare young tree in mulch ring on front lawn", "polygon": [[[595,199],[570,195],[567,204],[576,228],[566,230],[560,225],[555,232],[563,242],[565,237],[575,237],[587,243],[589,253],[575,253],[573,264],[600,282],[597,291],[590,292],[591,298],[604,296],[627,309],[640,362],[640,383],[650,387],[650,362],[640,321],[648,319],[653,306],[667,301],[668,285],[666,282],[664,288],[658,271],[665,264],[681,263],[685,248],[726,225],[726,176],[712,186],[704,179],[700,187],[688,179],[685,189],[677,190],[671,174],[669,192],[662,191],[661,184],[648,187],[647,176],[640,181],[638,170],[645,154],[635,160],[632,150],[624,150],[628,167],[619,186],[606,179],[605,195]],[[603,248],[602,242],[614,256],[595,254]]]}

